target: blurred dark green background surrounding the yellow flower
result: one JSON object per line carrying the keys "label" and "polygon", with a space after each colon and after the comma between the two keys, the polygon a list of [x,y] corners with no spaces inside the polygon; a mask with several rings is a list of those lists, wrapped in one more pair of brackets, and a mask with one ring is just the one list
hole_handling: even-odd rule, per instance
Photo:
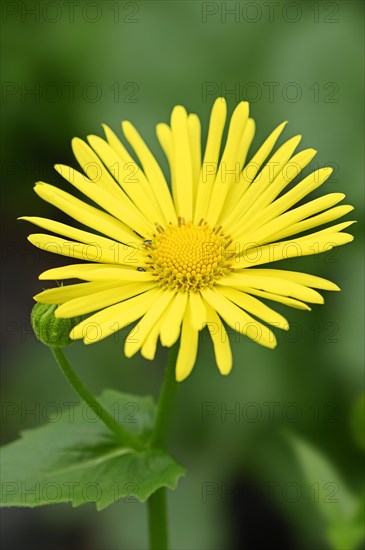
{"label": "blurred dark green background surrounding the yellow flower", "polygon": [[[76,400],[30,330],[39,272],[66,264],[32,249],[30,227],[16,221],[66,220],[36,197],[33,183],[63,186],[52,166],[75,165],[71,138],[101,135],[102,122],[119,132],[122,119],[136,124],[166,169],[156,123],[182,103],[201,116],[205,136],[222,94],[230,109],[251,101],[251,151],[288,119],[283,139],[303,134],[301,148],[319,151],[313,166],[335,168],[327,192],[345,192],[347,203],[361,207],[363,3],[3,2],[2,27],[5,443],[45,422],[49,403]],[[362,216],[358,208],[355,217]],[[363,544],[359,227],[355,242],[333,254],[288,262],[334,280],[342,292],[327,293],[310,313],[284,308],[292,328],[278,334],[275,351],[231,335],[234,369],[223,378],[202,335],[197,365],[179,387],[172,433],[171,450],[189,472],[169,495],[173,549]],[[114,387],[157,395],[165,350],[154,364],[126,360],[123,338],[74,344],[68,354],[96,393]],[[8,550],[144,549],[146,509],[6,510],[2,537]]]}

